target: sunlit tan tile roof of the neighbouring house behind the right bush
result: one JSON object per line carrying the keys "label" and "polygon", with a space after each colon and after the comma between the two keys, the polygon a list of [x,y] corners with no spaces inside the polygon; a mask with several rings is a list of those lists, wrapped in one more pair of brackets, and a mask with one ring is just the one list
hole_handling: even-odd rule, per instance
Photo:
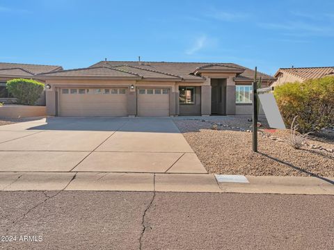
{"label": "sunlit tan tile roof of the neighbouring house behind the right bush", "polygon": [[312,78],[321,78],[334,74],[334,67],[291,67],[291,68],[280,68],[275,74],[275,77],[280,73],[288,73],[293,76],[297,76],[303,80]]}

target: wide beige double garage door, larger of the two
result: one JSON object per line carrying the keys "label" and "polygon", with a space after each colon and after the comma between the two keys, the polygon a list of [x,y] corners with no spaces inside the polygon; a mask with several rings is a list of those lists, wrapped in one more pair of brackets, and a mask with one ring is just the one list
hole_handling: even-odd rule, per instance
{"label": "wide beige double garage door, larger of the two", "polygon": [[125,116],[125,88],[62,88],[59,98],[61,116]]}

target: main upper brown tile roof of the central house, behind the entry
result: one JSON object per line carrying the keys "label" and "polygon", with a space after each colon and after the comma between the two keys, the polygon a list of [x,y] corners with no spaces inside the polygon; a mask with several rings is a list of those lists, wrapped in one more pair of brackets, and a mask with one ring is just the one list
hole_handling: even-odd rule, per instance
{"label": "main upper brown tile roof of the central house, behind the entry", "polygon": [[[176,63],[176,62],[138,62],[138,61],[101,61],[90,67],[106,66],[111,68],[123,67],[129,72],[138,72],[146,78],[154,72],[155,76],[171,76],[185,80],[204,80],[196,72],[209,70],[210,72],[226,71],[236,72],[236,80],[251,81],[254,78],[254,71],[234,63]],[[140,72],[139,72],[140,70]],[[159,74],[159,75],[158,75]],[[272,76],[258,72],[258,77],[273,79]]]}

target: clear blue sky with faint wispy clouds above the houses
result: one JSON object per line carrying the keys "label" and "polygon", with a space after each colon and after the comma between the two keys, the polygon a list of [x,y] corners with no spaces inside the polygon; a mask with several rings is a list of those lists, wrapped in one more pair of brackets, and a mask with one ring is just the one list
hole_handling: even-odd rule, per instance
{"label": "clear blue sky with faint wispy clouds above the houses", "polygon": [[334,1],[0,1],[0,61],[334,66]]}

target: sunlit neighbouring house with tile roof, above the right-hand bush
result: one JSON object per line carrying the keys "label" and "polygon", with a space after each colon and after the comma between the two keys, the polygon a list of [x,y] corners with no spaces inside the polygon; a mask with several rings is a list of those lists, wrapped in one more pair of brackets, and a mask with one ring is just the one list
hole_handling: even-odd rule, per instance
{"label": "sunlit neighbouring house with tile roof, above the right-hand bush", "polygon": [[273,87],[285,83],[303,82],[308,79],[322,78],[324,76],[334,76],[334,67],[291,67],[280,68],[274,75],[277,80],[272,84]]}

